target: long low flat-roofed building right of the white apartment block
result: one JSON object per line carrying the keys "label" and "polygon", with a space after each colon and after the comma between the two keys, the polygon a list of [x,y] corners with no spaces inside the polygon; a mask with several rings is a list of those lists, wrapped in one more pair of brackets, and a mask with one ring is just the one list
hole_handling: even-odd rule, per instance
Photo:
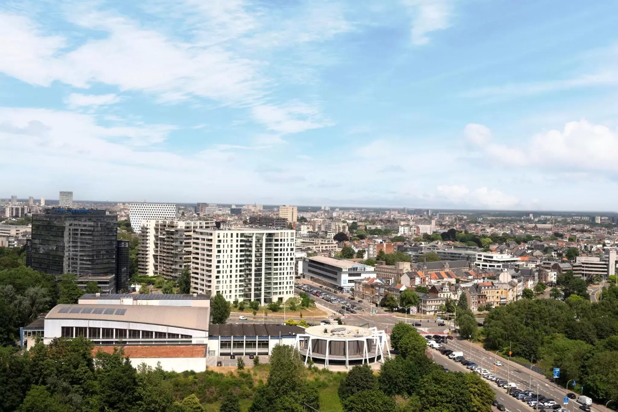
{"label": "long low flat-roofed building right of the white apartment block", "polygon": [[302,272],[310,280],[342,290],[350,290],[356,279],[376,277],[373,266],[326,256],[306,258]]}

